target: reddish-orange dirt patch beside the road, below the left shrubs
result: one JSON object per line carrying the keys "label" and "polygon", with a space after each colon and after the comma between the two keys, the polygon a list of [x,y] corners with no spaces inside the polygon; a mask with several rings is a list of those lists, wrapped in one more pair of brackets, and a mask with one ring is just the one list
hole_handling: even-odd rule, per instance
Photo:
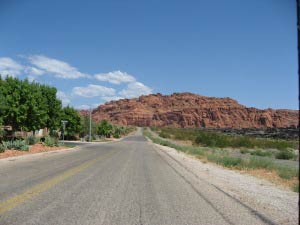
{"label": "reddish-orange dirt patch beside the road, below the left shrubs", "polygon": [[35,153],[39,153],[39,152],[62,150],[62,149],[66,149],[66,148],[68,148],[68,147],[66,147],[66,146],[49,147],[49,146],[45,146],[41,143],[38,143],[38,144],[30,146],[28,151],[5,150],[5,152],[0,153],[0,159],[13,157],[13,156],[19,156],[19,155],[35,154]]}

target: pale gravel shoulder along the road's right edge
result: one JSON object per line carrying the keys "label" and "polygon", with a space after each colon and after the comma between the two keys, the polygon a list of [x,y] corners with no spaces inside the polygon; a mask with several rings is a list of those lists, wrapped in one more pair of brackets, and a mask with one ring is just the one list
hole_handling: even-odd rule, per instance
{"label": "pale gravel shoulder along the road's right edge", "polygon": [[193,156],[167,146],[152,142],[149,144],[153,145],[163,157],[181,164],[202,181],[222,190],[252,209],[262,212],[276,223],[298,224],[298,193],[249,174],[203,163]]}

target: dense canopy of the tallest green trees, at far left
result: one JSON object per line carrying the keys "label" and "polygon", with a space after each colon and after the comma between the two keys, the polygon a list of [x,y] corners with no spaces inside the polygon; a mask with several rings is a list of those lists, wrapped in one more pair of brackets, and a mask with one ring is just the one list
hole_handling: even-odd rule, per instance
{"label": "dense canopy of the tallest green trees, at far left", "polygon": [[35,131],[60,125],[61,101],[56,88],[0,76],[0,122],[13,130]]}

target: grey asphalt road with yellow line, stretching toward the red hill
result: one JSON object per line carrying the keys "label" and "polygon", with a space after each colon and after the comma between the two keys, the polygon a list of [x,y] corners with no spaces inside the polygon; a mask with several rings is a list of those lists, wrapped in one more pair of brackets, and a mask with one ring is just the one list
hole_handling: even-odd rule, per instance
{"label": "grey asphalt road with yellow line, stretching toward the red hill", "polygon": [[268,223],[141,134],[0,161],[1,225]]}

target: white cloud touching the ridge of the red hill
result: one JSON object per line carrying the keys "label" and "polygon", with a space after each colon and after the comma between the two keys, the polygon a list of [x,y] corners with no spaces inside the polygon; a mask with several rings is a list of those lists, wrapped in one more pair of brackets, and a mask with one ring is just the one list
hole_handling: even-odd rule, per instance
{"label": "white cloud touching the ridge of the red hill", "polygon": [[135,98],[141,95],[148,95],[152,93],[152,89],[140,82],[129,83],[127,88],[120,91],[119,95],[125,98]]}

